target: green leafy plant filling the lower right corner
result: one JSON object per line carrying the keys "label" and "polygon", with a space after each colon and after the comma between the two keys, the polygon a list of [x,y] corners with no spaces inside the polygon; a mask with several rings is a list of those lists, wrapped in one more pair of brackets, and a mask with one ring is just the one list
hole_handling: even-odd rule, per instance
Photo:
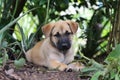
{"label": "green leafy plant filling the lower right corner", "polygon": [[81,72],[91,80],[120,80],[120,44],[107,56],[105,64],[90,60],[91,66]]}

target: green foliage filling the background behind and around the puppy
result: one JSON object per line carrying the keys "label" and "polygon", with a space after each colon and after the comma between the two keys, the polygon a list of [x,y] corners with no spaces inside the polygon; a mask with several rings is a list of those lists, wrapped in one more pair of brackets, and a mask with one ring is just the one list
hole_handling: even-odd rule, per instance
{"label": "green foliage filling the background behind and around the puppy", "polygon": [[[119,43],[119,9],[119,0],[1,0],[0,65],[4,67],[12,59],[17,68],[23,66],[24,53],[34,42],[42,39],[41,27],[60,19],[79,23],[78,40],[75,39],[79,56],[92,58],[96,54],[104,54],[108,43],[109,50]],[[82,42],[86,44],[82,45]],[[107,56],[105,64],[84,56],[89,61],[87,66],[91,66],[83,69],[82,73],[90,76],[91,80],[119,79],[119,48],[118,45]]]}

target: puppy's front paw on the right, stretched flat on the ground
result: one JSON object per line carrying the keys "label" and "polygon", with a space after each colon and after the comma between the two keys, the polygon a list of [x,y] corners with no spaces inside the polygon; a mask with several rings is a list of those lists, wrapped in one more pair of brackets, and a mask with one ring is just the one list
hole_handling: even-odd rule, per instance
{"label": "puppy's front paw on the right, stretched flat on the ground", "polygon": [[74,71],[80,71],[81,69],[84,68],[84,65],[79,62],[72,62],[68,65],[69,68],[71,68]]}

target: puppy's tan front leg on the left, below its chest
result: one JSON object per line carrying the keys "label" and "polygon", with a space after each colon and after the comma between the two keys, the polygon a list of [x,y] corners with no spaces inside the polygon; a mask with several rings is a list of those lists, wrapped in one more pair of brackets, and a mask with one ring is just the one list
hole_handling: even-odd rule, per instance
{"label": "puppy's tan front leg on the left, below its chest", "polygon": [[50,60],[50,65],[49,67],[51,69],[58,69],[60,71],[64,71],[65,69],[68,69],[68,66],[64,63],[61,63],[57,60]]}

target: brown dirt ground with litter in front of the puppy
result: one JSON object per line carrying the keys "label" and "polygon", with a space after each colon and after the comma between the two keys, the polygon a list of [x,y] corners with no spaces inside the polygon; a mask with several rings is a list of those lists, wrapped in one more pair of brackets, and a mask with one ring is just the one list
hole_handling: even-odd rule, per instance
{"label": "brown dirt ground with litter in front of the puppy", "polygon": [[0,68],[0,80],[89,80],[82,79],[80,72],[48,71],[45,67],[28,63],[24,67],[16,69],[13,61],[8,62],[4,68]]}

